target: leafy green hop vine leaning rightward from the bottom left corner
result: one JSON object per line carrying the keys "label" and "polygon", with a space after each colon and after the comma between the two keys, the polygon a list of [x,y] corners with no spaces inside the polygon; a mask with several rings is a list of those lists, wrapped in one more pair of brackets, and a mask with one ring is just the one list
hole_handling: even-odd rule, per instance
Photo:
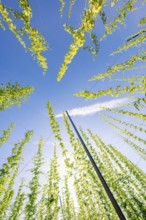
{"label": "leafy green hop vine leaning rightward from the bottom left corner", "polygon": [[33,132],[28,131],[22,142],[18,142],[12,149],[12,154],[7,158],[7,163],[0,169],[0,218],[4,219],[7,208],[14,195],[13,186],[18,174],[20,160],[24,146],[29,142]]}

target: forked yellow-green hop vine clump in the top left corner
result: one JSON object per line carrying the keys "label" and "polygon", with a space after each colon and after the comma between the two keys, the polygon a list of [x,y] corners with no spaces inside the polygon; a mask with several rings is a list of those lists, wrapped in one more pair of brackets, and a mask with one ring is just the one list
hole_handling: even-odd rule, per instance
{"label": "forked yellow-green hop vine clump in the top left corner", "polygon": [[[36,28],[31,25],[32,10],[27,0],[19,0],[19,7],[21,11],[15,11],[10,7],[5,6],[0,1],[0,14],[2,16],[1,27],[5,29],[5,23],[8,25],[10,31],[12,31],[25,50],[29,50],[32,56],[37,59],[44,72],[47,70],[46,58],[42,55],[42,52],[47,50],[46,40],[42,37]],[[13,15],[11,18],[10,15]],[[18,29],[15,25],[15,20],[22,22],[22,27]],[[23,36],[27,36],[30,41],[30,46],[27,46],[27,40],[23,39]]]}

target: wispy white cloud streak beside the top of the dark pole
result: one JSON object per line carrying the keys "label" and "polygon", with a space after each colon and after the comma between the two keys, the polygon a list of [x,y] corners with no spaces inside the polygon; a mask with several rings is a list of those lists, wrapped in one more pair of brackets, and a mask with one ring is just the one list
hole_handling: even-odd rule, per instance
{"label": "wispy white cloud streak beside the top of the dark pole", "polygon": [[[132,102],[133,99],[130,98],[120,98],[120,99],[114,99],[107,102],[101,102],[94,105],[89,105],[81,108],[74,108],[71,110],[68,110],[68,113],[70,116],[85,116],[85,115],[93,115],[99,111],[102,111],[104,108],[117,108],[120,106],[124,106],[125,104]],[[58,114],[55,117],[60,118],[62,117],[62,114]]]}

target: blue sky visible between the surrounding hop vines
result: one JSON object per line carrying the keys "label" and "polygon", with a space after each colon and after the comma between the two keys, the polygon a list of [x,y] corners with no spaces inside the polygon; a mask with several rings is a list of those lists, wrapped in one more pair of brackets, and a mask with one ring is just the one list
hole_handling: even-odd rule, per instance
{"label": "blue sky visible between the surrounding hop vines", "polygon": [[[18,8],[17,1],[10,2],[5,0],[3,2],[10,7]],[[143,6],[139,10],[135,10],[129,14],[125,26],[119,25],[119,28],[112,35],[107,36],[105,40],[100,42],[100,50],[97,57],[93,57],[90,52],[80,49],[73,62],[69,65],[61,82],[57,82],[56,78],[59,68],[70,43],[73,41],[72,36],[64,31],[63,24],[67,23],[73,27],[78,27],[81,24],[82,9],[86,5],[86,1],[76,1],[71,18],[67,16],[68,5],[65,7],[64,15],[60,17],[59,1],[30,0],[29,2],[33,12],[32,24],[48,41],[48,51],[44,53],[48,62],[46,75],[43,75],[43,70],[37,64],[36,60],[33,60],[29,52],[24,51],[24,48],[22,48],[14,34],[8,28],[6,31],[0,30],[0,81],[3,83],[7,83],[8,81],[15,83],[18,81],[22,86],[32,85],[35,88],[34,93],[21,107],[13,106],[0,113],[1,129],[6,129],[10,122],[16,122],[11,140],[5,144],[5,147],[0,149],[1,162],[10,155],[13,143],[21,140],[25,131],[33,129],[35,132],[30,144],[24,149],[25,160],[21,173],[28,170],[29,161],[33,157],[34,152],[36,152],[36,143],[41,135],[46,140],[44,148],[45,155],[49,155],[51,152],[54,139],[46,109],[48,100],[50,100],[56,115],[62,113],[64,110],[86,107],[113,100],[110,96],[95,100],[85,100],[83,98],[77,98],[73,94],[84,89],[97,91],[114,84],[114,82],[110,82],[109,80],[105,82],[88,82],[88,79],[94,74],[104,72],[109,65],[120,63],[130,57],[130,52],[120,53],[115,56],[110,56],[110,53],[123,44],[130,35],[139,30],[137,23],[141,17],[145,16],[146,12],[146,7]],[[138,1],[138,5],[140,4],[141,1]],[[109,20],[112,20],[114,9],[111,8],[107,11],[107,14]],[[95,33],[98,39],[104,34],[104,28],[100,18],[96,21]],[[88,35],[86,37],[86,45],[88,45],[90,41]],[[145,48],[145,45],[143,48]],[[137,51],[137,49],[132,50],[132,52],[134,51]],[[139,73],[143,73],[142,70],[137,72],[137,74]],[[127,76],[130,74],[131,71],[127,73]],[[120,74],[117,76],[119,77]],[[124,96],[120,98],[122,97]],[[124,116],[121,115],[122,118],[124,119]],[[84,117],[76,116],[73,119],[76,125],[81,125],[83,128],[90,128],[99,133],[105,141],[115,143],[131,160],[138,163],[144,169],[143,160],[139,160],[139,156],[131,153],[130,148],[127,148],[124,142],[119,140],[115,135],[115,131],[99,119],[98,113]],[[62,118],[58,118],[57,120],[61,125],[63,124]]]}

